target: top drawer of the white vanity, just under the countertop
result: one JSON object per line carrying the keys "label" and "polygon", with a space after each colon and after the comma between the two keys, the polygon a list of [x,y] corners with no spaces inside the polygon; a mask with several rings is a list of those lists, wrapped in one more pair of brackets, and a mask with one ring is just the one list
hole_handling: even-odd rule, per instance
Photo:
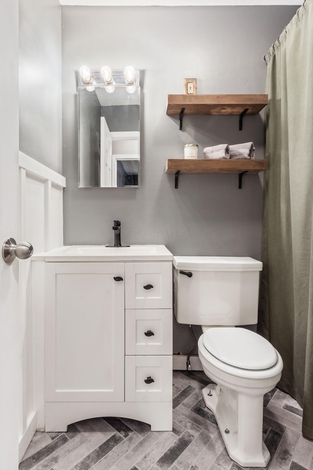
{"label": "top drawer of the white vanity, just under the countertop", "polygon": [[172,263],[126,263],[126,308],[172,308]]}

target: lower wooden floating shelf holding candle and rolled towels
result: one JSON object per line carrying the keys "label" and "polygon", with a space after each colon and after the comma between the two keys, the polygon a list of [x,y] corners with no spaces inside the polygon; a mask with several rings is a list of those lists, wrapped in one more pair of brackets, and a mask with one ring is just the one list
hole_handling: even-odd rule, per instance
{"label": "lower wooden floating shelf holding candle and rolled towels", "polygon": [[179,174],[238,174],[239,188],[244,174],[255,174],[266,170],[268,161],[249,159],[168,159],[165,173],[175,174],[175,188],[178,188]]}

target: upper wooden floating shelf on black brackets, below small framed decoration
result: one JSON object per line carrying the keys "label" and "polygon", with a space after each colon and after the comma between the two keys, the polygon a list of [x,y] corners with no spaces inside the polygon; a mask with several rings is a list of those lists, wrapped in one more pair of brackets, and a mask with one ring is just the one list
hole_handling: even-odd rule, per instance
{"label": "upper wooden floating shelf on black brackets, below small framed decoration", "polygon": [[267,94],[168,94],[167,115],[258,114],[268,104]]}

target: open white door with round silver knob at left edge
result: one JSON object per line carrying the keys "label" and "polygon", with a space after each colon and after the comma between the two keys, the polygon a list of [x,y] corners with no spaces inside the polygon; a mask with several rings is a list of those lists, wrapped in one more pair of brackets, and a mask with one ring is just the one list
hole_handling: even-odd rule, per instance
{"label": "open white door with round silver knob at left edge", "polygon": [[[1,0],[0,57],[7,86],[0,87],[0,246],[20,238],[18,0]],[[19,264],[0,255],[0,469],[18,468]]]}

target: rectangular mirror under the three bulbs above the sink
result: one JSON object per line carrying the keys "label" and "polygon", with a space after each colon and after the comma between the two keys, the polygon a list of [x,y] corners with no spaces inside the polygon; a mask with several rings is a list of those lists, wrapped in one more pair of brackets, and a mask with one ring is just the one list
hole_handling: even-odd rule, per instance
{"label": "rectangular mirror under the three bulbs above the sink", "polygon": [[91,73],[91,86],[78,87],[78,186],[138,188],[140,88],[116,84],[114,72],[113,84],[98,84]]}

